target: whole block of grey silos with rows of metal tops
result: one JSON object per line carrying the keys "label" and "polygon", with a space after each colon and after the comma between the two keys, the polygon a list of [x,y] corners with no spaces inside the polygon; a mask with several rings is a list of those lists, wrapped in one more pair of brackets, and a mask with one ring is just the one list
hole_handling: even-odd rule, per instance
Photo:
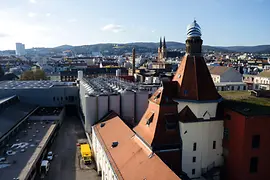
{"label": "whole block of grey silos with rows of metal tops", "polygon": [[80,105],[85,119],[85,129],[102,119],[109,111],[119,114],[127,124],[134,126],[148,105],[149,88],[117,77],[84,78],[78,72]]}

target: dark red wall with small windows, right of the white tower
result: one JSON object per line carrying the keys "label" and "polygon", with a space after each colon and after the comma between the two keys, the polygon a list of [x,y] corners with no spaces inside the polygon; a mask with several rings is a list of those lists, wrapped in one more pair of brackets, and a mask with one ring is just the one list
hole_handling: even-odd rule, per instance
{"label": "dark red wall with small windows, right of the white tower", "polygon": [[[240,113],[225,109],[231,120],[225,120],[224,126],[229,129],[229,139],[223,141],[228,150],[225,156],[226,179],[257,180],[269,179],[270,166],[270,117],[245,117]],[[252,136],[260,135],[260,147],[252,148]],[[258,172],[250,173],[250,158],[258,157]]]}

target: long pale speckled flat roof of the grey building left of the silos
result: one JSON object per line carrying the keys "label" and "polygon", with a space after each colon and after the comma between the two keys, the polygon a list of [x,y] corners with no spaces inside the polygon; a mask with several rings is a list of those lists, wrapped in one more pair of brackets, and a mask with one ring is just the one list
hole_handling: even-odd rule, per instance
{"label": "long pale speckled flat roof of the grey building left of the silos", "polygon": [[0,89],[41,89],[71,85],[70,82],[58,81],[2,81],[0,82]]}

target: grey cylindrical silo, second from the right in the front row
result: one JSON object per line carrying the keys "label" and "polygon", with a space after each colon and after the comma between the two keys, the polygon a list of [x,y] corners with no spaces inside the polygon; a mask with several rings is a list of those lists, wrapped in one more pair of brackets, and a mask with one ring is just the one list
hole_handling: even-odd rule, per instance
{"label": "grey cylindrical silo, second from the right in the front row", "polygon": [[132,91],[123,91],[121,93],[121,116],[127,122],[134,124],[135,115],[135,93]]}

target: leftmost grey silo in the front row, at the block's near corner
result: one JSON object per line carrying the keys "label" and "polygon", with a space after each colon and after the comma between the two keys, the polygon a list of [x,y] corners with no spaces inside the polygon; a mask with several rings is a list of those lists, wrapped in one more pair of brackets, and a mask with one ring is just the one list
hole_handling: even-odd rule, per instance
{"label": "leftmost grey silo in the front row, at the block's near corner", "polygon": [[97,121],[97,111],[97,97],[85,95],[85,130],[88,133]]}

